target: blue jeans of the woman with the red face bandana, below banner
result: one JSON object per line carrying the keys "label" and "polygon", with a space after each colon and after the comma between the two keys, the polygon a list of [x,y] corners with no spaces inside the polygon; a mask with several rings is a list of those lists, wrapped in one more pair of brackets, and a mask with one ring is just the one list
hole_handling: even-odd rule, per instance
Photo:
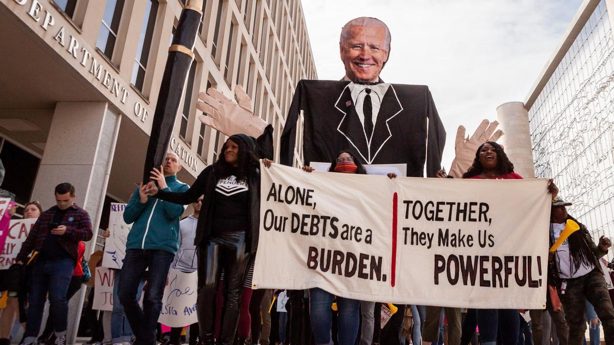
{"label": "blue jeans of the woman with the red face bandana, below banner", "polygon": [[[360,322],[360,301],[343,297],[337,297],[336,301],[339,312],[337,319],[339,345],[354,345]],[[333,322],[333,310],[330,306],[333,304],[333,295],[317,287],[309,289],[309,304],[309,319],[316,345],[330,344]]]}

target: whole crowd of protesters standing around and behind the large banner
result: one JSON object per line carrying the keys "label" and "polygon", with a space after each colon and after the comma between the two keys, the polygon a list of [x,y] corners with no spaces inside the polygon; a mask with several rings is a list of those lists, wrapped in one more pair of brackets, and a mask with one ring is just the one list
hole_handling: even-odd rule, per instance
{"label": "whole crowd of protesters standing around and behind the large banner", "polygon": [[[614,308],[604,279],[608,273],[599,263],[610,248],[610,240],[602,236],[596,244],[581,219],[567,213],[566,207],[572,203],[558,196],[552,182],[547,191],[553,195],[550,228],[543,229],[548,231],[550,245],[568,219],[575,220],[580,230],[549,257],[544,310],[392,306],[386,301],[335,297],[319,288],[251,290],[260,200],[254,146],[249,136],[231,136],[219,160],[201,172],[191,187],[177,180],[181,166],[177,156],[169,153],[165,165],[152,171],[155,184],[136,188],[124,212],[126,223],[133,223],[133,227],[123,268],[115,273],[116,303],[109,343],[491,345],[554,341],[565,345],[582,343],[588,325],[591,344],[599,341],[600,327],[606,343],[614,344]],[[273,164],[263,162],[267,167]],[[305,166],[303,171],[313,168]],[[365,174],[351,150],[340,152],[330,171]],[[448,176],[442,170],[438,177]],[[478,148],[463,177],[522,178],[496,142]],[[37,202],[26,204],[24,217],[38,220],[21,246],[17,265],[1,271],[4,276],[14,276],[20,266],[27,266],[21,274],[28,286],[26,290],[14,284],[4,287],[8,298],[0,316],[2,344],[9,343],[12,325],[25,305],[25,318],[20,318],[25,321],[21,343],[66,343],[68,300],[85,281],[83,241],[91,239],[93,232],[87,212],[74,204],[74,187],[64,183],[54,192],[56,206],[47,211]],[[180,221],[182,205],[190,203],[193,214]],[[169,268],[198,272],[199,322],[188,326],[185,335],[182,328],[172,328],[165,339],[157,321]],[[278,312],[278,302],[271,301],[279,293],[287,295],[287,300],[284,311]],[[39,336],[47,296],[51,317]],[[281,303],[281,299],[277,301]],[[384,327],[383,306],[395,309]]]}

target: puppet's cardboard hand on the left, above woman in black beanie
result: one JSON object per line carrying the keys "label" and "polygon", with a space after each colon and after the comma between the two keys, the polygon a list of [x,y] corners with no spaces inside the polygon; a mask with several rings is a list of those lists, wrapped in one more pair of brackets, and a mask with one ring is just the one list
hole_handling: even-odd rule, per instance
{"label": "puppet's cardboard hand on the left, above woman in black beanie", "polygon": [[237,103],[214,88],[209,88],[207,93],[198,93],[201,100],[196,102],[196,108],[209,115],[201,115],[198,119],[227,136],[245,133],[258,138],[268,123],[254,116],[251,100],[241,85],[235,87],[235,96]]}

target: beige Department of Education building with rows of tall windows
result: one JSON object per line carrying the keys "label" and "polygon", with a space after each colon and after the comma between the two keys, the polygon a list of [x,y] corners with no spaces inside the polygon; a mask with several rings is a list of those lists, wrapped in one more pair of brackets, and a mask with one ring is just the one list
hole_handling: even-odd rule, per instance
{"label": "beige Department of Education building with rows of tall windows", "polygon": [[[243,85],[255,114],[273,125],[279,157],[294,87],[317,79],[300,0],[203,2],[195,60],[168,148],[181,158],[178,177],[188,184],[225,141],[198,120],[199,91],[214,87],[233,97]],[[39,200],[46,209],[55,204],[53,187],[71,182],[77,204],[96,228],[106,228],[109,203],[128,201],[141,179],[184,6],[185,0],[0,0],[0,159],[6,167],[0,192],[21,205]],[[71,302],[71,343],[84,295]]]}

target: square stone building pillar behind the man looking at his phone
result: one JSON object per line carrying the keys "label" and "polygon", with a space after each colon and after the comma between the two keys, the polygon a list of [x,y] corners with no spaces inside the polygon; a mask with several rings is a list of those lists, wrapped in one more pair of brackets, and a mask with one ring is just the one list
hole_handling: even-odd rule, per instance
{"label": "square stone building pillar behind the man looking at his phone", "polygon": [[[58,102],[34,182],[33,200],[41,201],[45,209],[55,204],[56,185],[75,186],[75,202],[90,214],[94,229],[94,237],[85,242],[86,258],[95,248],[120,120],[107,103]],[[69,303],[68,344],[75,343],[84,298],[81,289]]]}

